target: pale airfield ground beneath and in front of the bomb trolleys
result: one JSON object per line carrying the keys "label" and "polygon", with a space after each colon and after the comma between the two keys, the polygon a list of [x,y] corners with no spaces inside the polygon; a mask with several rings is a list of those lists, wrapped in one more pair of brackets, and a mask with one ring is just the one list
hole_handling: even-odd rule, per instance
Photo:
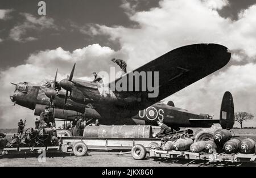
{"label": "pale airfield ground beneath and in front of the bomb trolleys", "polygon": [[[256,139],[256,129],[233,129],[236,135],[251,137]],[[8,134],[11,136],[11,133]],[[0,167],[2,166],[104,166],[104,167],[205,167],[205,166],[251,166],[256,167],[254,163],[207,163],[203,160],[167,159],[167,158],[146,158],[144,160],[134,160],[131,154],[117,156],[118,152],[89,151],[87,156],[77,157],[69,154],[47,154],[46,162],[40,163],[37,155],[5,155],[0,158]]]}

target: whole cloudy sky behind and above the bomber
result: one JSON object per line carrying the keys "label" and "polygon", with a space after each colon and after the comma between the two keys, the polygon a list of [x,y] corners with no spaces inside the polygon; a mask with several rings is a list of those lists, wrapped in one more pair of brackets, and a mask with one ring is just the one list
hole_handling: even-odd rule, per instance
{"label": "whole cloudy sky behind and above the bomber", "polygon": [[[9,95],[18,83],[53,79],[70,72],[91,77],[109,71],[110,59],[123,58],[128,70],[179,46],[227,46],[227,66],[168,97],[180,108],[219,117],[225,91],[236,111],[256,116],[256,1],[247,0],[97,0],[0,2],[0,128],[15,128],[19,118],[34,126],[34,112],[15,105]],[[236,125],[237,126],[237,125]],[[256,118],[245,122],[256,126]]]}

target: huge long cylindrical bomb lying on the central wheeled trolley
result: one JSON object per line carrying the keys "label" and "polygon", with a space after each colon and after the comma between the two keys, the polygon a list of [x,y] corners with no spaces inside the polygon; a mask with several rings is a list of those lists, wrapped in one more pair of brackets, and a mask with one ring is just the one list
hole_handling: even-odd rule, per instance
{"label": "huge long cylindrical bomb lying on the central wheeled trolley", "polygon": [[150,138],[150,125],[86,126],[84,137],[93,138]]}

